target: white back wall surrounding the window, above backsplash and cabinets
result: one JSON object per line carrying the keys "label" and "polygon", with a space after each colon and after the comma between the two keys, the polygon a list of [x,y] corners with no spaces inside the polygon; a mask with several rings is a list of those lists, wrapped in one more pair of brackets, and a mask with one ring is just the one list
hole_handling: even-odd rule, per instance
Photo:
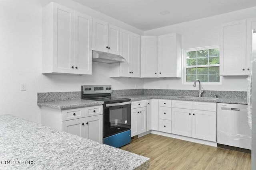
{"label": "white back wall surrounding the window, above backsplash and cabinets", "polygon": [[[218,16],[189,21],[176,25],[161,27],[144,32],[144,35],[163,35],[180,33],[182,35],[182,49],[219,45],[220,25],[222,23],[256,17],[256,7],[230,12]],[[205,90],[246,91],[246,76],[222,77],[221,85],[203,85]],[[192,85],[182,84],[182,78],[145,79],[144,88],[158,89],[188,89],[197,90]]]}

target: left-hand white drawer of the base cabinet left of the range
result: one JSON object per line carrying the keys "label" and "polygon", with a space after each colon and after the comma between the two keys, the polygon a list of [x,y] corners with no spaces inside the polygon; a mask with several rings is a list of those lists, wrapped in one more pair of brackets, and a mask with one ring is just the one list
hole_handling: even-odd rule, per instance
{"label": "left-hand white drawer of the base cabinet left of the range", "polygon": [[84,107],[62,110],[62,121],[84,117]]}

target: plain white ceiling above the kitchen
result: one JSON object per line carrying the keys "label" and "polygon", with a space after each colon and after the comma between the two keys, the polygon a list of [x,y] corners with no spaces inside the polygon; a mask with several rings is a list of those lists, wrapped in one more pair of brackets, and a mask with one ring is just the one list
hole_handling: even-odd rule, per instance
{"label": "plain white ceiling above the kitchen", "polygon": [[[256,0],[73,0],[143,31],[256,6]],[[170,13],[162,15],[159,12]]]}

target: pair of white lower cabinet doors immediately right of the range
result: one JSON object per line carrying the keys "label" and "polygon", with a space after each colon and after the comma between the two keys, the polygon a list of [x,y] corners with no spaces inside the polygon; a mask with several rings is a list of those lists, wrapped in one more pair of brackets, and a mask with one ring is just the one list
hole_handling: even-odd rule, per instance
{"label": "pair of white lower cabinet doors immediately right of the range", "polygon": [[146,127],[146,122],[147,122],[147,117],[146,117],[146,107],[140,107],[136,109],[132,109],[131,113],[131,137],[138,135],[140,133],[144,133],[147,130]]}

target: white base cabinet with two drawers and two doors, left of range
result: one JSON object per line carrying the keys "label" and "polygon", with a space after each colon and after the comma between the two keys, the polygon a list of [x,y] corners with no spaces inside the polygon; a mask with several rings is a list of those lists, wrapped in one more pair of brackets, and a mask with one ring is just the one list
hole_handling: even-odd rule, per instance
{"label": "white base cabinet with two drawers and two doors, left of range", "polygon": [[65,110],[41,107],[43,125],[99,143],[103,139],[102,113],[102,105]]}

